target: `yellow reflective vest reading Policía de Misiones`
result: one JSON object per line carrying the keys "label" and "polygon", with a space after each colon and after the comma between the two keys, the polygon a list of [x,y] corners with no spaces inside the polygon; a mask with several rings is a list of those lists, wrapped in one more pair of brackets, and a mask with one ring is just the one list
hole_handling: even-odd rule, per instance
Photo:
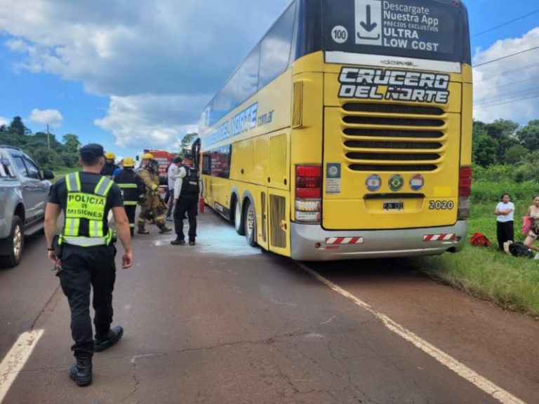
{"label": "yellow reflective vest reading Polic\u00eda de Misiones", "polygon": [[[67,186],[67,204],[65,208],[64,228],[60,236],[60,243],[91,247],[94,245],[108,245],[112,240],[112,230],[104,234],[103,224],[107,194],[112,187],[112,180],[101,177],[93,194],[81,190],[79,173],[65,176]],[[88,223],[88,236],[81,236],[81,223]]]}

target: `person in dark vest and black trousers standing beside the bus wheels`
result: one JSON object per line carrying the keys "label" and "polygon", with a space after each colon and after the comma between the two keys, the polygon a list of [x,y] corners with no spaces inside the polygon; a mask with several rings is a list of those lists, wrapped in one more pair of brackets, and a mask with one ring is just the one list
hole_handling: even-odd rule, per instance
{"label": "person in dark vest and black trousers standing beside the bus wheels", "polygon": [[194,245],[197,237],[197,206],[199,201],[199,171],[193,166],[193,155],[186,154],[184,165],[180,167],[174,184],[174,228],[176,239],[172,245],[184,245],[183,218],[187,212],[189,220],[189,245]]}

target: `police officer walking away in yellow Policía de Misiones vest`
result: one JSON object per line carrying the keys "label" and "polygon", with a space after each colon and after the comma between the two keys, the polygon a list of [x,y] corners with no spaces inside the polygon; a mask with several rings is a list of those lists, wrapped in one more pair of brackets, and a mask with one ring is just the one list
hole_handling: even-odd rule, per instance
{"label": "police officer walking away in yellow Polic\u00eda de Misiones vest", "polygon": [[[86,144],[80,150],[79,163],[82,172],[68,174],[51,187],[45,211],[45,236],[48,258],[55,263],[71,310],[76,363],[69,370],[69,377],[85,386],[92,382],[94,351],[109,348],[124,333],[119,325],[111,328],[116,248],[107,219],[109,210],[124,245],[122,269],[133,264],[133,252],[121,191],[112,180],[100,175],[105,164],[103,147]],[[56,222],[62,210],[64,226],[58,237]],[[90,317],[92,288],[95,341]]]}

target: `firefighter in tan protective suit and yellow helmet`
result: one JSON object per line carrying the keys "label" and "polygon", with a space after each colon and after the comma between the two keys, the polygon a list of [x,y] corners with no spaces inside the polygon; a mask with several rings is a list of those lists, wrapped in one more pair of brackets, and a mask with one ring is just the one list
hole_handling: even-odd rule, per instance
{"label": "firefighter in tan protective suit and yellow helmet", "polygon": [[[143,156],[142,161],[144,160],[145,158]],[[168,233],[172,229],[165,224],[166,204],[161,199],[161,196],[159,196],[159,163],[157,160],[149,160],[139,175],[145,185],[145,194],[140,203],[137,233],[149,234],[149,231],[145,229],[147,213],[149,211],[153,213],[155,224],[159,227],[159,233]]]}

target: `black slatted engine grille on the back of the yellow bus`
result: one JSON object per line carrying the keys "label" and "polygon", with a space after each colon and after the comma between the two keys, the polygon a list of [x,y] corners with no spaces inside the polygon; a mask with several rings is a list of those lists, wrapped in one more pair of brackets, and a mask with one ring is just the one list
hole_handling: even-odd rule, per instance
{"label": "black slatted engine grille on the back of the yellow bus", "polygon": [[348,102],[342,145],[354,171],[434,171],[444,159],[447,114],[438,107]]}

